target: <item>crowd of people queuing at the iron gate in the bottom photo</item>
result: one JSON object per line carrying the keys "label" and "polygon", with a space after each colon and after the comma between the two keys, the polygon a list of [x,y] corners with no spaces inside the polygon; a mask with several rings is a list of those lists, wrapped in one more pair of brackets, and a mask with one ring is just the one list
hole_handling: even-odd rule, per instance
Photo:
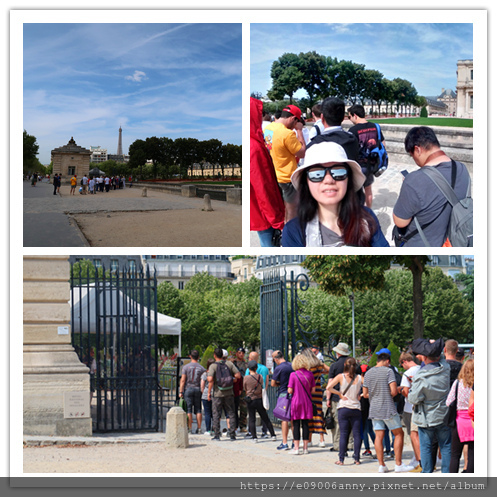
{"label": "crowd of people queuing at the iron gate in the bottom photo", "polygon": [[[329,450],[337,453],[339,466],[350,453],[355,465],[365,458],[377,460],[380,473],[390,471],[389,459],[395,461],[397,473],[432,473],[437,465],[443,473],[458,473],[461,459],[462,472],[474,472],[474,361],[465,358],[457,341],[414,340],[400,355],[401,371],[391,364],[386,348],[376,352],[371,367],[352,357],[346,343],[336,345],[333,352],[336,360],[328,366],[317,346],[302,350],[291,362],[276,350],[270,371],[256,351],[246,360],[243,347],[231,357],[216,348],[207,368],[192,350],[179,387],[189,431],[201,433],[203,407],[204,434],[213,441],[221,440],[225,416],[230,440],[237,435],[254,442],[270,438],[280,442],[275,450],[293,455],[327,447],[329,430]],[[280,418],[281,441],[269,416],[270,387],[276,389],[277,399],[290,400],[290,417]],[[455,413],[452,423],[450,411]],[[408,464],[402,459],[405,434],[412,447]]]}

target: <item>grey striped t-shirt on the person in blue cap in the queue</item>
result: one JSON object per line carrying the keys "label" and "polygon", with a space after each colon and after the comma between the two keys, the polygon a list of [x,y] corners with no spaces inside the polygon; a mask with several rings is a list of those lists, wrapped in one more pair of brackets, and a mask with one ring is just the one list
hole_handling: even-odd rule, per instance
{"label": "grey striped t-shirt on the person in blue cap in the queue", "polygon": [[376,366],[364,375],[364,386],[369,392],[369,419],[390,419],[397,409],[390,392],[390,383],[395,383],[391,368]]}

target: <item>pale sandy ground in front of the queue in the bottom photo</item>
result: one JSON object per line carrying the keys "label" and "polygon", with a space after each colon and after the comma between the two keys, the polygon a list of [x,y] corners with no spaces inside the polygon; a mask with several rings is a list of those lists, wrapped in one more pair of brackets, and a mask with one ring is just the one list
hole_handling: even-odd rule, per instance
{"label": "pale sandy ground in front of the queue in the bottom photo", "polygon": [[[225,426],[223,421],[221,427]],[[331,433],[326,435],[326,447],[313,446],[308,455],[295,456],[276,450],[281,431],[277,427],[275,431],[276,442],[260,439],[259,443],[241,435],[234,442],[224,436],[214,442],[208,435],[189,435],[186,449],[168,447],[164,433],[109,433],[86,438],[24,436],[23,466],[25,473],[378,474],[376,459],[364,457],[360,465],[355,465],[350,451],[345,465],[336,465],[338,452],[330,452]],[[407,434],[405,440],[403,462],[407,464],[412,457]],[[385,464],[390,473],[383,476],[394,476],[395,461],[385,459]],[[440,468],[436,473],[440,474]]]}

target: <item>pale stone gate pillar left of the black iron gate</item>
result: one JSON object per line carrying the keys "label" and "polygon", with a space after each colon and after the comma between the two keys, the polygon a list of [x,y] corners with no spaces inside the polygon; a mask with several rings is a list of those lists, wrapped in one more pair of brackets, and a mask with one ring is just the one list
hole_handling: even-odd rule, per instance
{"label": "pale stone gate pillar left of the black iron gate", "polygon": [[23,257],[25,435],[91,436],[90,375],[71,345],[68,256]]}

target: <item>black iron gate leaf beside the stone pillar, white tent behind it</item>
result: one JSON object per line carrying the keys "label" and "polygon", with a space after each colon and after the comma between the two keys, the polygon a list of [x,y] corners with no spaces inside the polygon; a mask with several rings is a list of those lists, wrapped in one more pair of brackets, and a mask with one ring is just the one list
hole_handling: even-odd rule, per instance
{"label": "black iron gate leaf beside the stone pillar, white tent behind it", "polygon": [[93,429],[156,431],[157,279],[150,270],[71,267],[72,343],[90,368]]}

